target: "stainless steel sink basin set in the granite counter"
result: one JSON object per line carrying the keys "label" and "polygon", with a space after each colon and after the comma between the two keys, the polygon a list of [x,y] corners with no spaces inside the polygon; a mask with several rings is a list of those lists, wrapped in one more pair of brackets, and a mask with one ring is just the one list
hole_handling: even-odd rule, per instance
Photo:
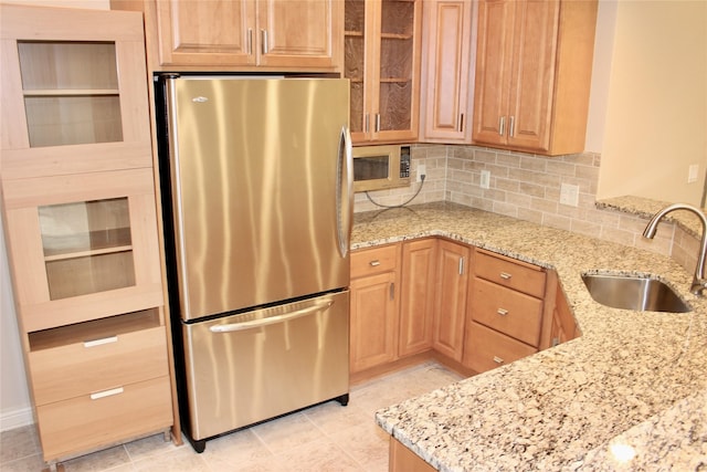
{"label": "stainless steel sink basin set in the granite counter", "polygon": [[602,305],[637,312],[686,313],[690,307],[665,283],[631,275],[582,275],[590,295]]}

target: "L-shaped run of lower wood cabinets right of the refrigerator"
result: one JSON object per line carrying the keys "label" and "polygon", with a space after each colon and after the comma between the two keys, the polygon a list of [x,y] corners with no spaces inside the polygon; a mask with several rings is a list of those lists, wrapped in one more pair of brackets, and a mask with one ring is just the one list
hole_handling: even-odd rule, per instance
{"label": "L-shaped run of lower wood cabinets right of the refrigerator", "polygon": [[478,374],[578,335],[553,271],[444,238],[351,253],[350,333],[362,376],[425,353]]}

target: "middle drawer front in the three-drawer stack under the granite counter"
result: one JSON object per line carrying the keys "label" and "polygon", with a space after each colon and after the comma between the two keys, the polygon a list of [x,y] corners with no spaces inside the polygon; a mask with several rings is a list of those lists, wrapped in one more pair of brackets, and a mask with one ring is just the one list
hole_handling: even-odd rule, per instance
{"label": "middle drawer front in the three-drawer stack under the granite counter", "polygon": [[474,279],[472,318],[537,347],[542,324],[542,301],[483,279]]}

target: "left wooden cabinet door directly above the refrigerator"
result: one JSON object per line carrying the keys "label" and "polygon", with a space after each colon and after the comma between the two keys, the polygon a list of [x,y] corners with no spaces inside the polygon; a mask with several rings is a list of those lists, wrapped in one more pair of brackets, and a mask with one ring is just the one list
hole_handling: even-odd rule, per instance
{"label": "left wooden cabinet door directly above the refrigerator", "polygon": [[160,0],[156,6],[161,65],[253,65],[255,3]]}

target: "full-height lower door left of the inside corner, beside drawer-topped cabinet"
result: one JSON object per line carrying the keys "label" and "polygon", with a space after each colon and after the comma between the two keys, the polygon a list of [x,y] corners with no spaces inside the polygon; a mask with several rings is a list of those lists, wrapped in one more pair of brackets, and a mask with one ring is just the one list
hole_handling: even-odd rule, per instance
{"label": "full-height lower door left of the inside corner, beside drawer-topped cabinet", "polygon": [[403,244],[398,346],[400,356],[422,353],[432,346],[435,273],[436,240]]}

